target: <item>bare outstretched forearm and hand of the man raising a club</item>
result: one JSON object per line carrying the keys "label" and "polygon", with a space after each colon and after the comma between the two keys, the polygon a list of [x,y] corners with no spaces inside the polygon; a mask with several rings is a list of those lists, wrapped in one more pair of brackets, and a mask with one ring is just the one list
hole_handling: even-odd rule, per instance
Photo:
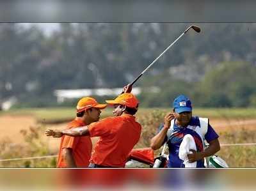
{"label": "bare outstretched forearm and hand of the man raising a club", "polygon": [[63,135],[68,135],[72,137],[86,136],[89,135],[88,126],[79,126],[76,128],[68,128],[66,130],[52,130],[47,129],[45,135],[52,137],[62,137]]}

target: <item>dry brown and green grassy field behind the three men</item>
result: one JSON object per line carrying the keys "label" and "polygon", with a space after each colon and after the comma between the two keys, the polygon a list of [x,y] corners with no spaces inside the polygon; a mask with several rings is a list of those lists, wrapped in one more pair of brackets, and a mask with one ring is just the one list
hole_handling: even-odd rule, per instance
{"label": "dry brown and green grassy field behind the three men", "polygon": [[[157,126],[163,122],[163,117],[170,109],[146,109],[141,108],[136,114],[138,121],[143,126],[141,139],[135,148],[145,148],[150,144],[150,139],[156,134]],[[67,121],[74,118],[73,108],[45,108],[45,109],[15,109],[0,112],[0,128],[2,134],[5,131],[10,134],[10,138],[17,140],[18,135],[25,144],[11,141],[11,139],[1,139],[0,158],[23,158],[37,157],[45,155],[56,155],[58,148],[57,139],[46,139],[44,130],[50,128],[65,128]],[[211,125],[220,135],[221,143],[246,143],[256,142],[256,109],[194,109],[194,116],[207,117],[211,119]],[[22,117],[20,117],[22,116]],[[112,116],[111,108],[102,111],[101,117]],[[29,118],[29,120],[25,120]],[[6,119],[7,122],[6,126]],[[33,120],[35,119],[33,122]],[[12,122],[13,120],[13,122]],[[33,123],[32,123],[32,122]],[[16,126],[14,122],[17,123]],[[12,125],[13,123],[13,125]],[[24,124],[23,124],[24,123]],[[4,124],[4,125],[3,125]],[[23,124],[22,127],[20,127]],[[26,125],[27,124],[27,125]],[[10,128],[9,126],[10,125]],[[7,128],[6,128],[6,127]],[[15,131],[16,128],[18,132]],[[13,135],[15,137],[13,137]],[[20,138],[20,139],[21,139]],[[12,139],[13,140],[13,139]],[[159,151],[156,151],[156,154]],[[230,167],[256,167],[256,147],[255,146],[231,146],[223,147],[217,153],[228,162]],[[15,162],[0,162],[0,167],[55,167],[56,158],[22,160]]]}

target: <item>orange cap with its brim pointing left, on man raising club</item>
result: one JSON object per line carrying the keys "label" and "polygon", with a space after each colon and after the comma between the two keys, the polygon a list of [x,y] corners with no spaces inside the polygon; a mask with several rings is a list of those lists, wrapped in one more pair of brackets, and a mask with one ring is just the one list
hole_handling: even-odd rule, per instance
{"label": "orange cap with its brim pointing left, on man raising club", "polygon": [[122,104],[126,105],[127,107],[136,108],[138,106],[139,101],[137,100],[136,96],[132,93],[123,93],[115,98],[115,100],[106,100],[109,104]]}

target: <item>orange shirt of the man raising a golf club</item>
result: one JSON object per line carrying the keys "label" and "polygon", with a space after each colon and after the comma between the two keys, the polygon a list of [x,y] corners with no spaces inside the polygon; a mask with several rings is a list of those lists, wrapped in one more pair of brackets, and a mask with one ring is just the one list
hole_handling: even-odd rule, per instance
{"label": "orange shirt of the man raising a golf club", "polygon": [[88,128],[91,137],[100,137],[91,162],[110,167],[125,166],[129,153],[141,135],[140,123],[129,114],[102,119],[91,123]]}

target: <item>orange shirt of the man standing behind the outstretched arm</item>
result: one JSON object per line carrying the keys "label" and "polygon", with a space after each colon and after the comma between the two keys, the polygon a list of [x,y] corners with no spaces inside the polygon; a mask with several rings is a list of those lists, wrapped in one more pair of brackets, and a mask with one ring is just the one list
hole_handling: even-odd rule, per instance
{"label": "orange shirt of the man standing behind the outstretched arm", "polygon": [[[77,126],[84,126],[84,122],[80,119],[74,119],[68,123],[68,128],[74,128]],[[89,160],[92,153],[92,140],[89,136],[83,137],[71,137],[64,135],[61,137],[60,151],[58,156],[57,167],[67,167],[64,158],[62,157],[63,148],[71,148],[74,160],[77,167],[88,167]]]}

